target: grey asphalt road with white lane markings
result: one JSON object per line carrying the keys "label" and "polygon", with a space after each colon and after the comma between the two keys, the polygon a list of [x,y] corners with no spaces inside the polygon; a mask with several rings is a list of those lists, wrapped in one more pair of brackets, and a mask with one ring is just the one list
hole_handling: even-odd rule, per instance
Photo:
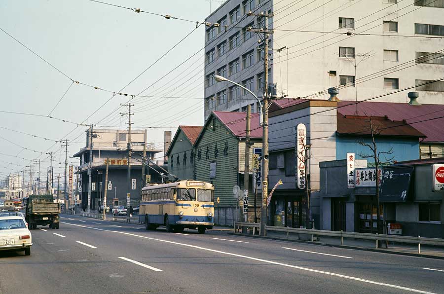
{"label": "grey asphalt road with white lane markings", "polygon": [[444,293],[439,259],[62,217],[0,252],[0,294]]}

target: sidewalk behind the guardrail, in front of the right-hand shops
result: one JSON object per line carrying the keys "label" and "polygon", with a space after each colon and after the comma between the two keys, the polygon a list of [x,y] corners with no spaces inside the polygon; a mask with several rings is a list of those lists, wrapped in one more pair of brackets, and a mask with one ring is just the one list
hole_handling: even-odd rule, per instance
{"label": "sidewalk behind the guardrail, in front of the right-hand shops", "polygon": [[432,257],[432,258],[444,259],[444,248],[437,247],[437,246],[421,245],[421,253],[418,254],[418,245],[417,244],[400,244],[400,243],[389,242],[388,248],[385,248],[385,243],[383,243],[382,248],[376,249],[375,241],[372,241],[372,240],[344,238],[344,243],[343,243],[343,245],[341,245],[340,238],[327,237],[327,236],[317,236],[317,240],[315,242],[303,241],[303,240],[307,240],[308,239],[307,237],[311,238],[311,235],[307,235],[307,234],[300,234],[302,236],[303,240],[301,240],[299,238],[299,234],[290,233],[289,236],[287,237],[287,233],[285,233],[285,232],[267,231],[266,237],[259,237],[258,235],[253,236],[252,234],[241,234],[241,233],[228,233],[228,234],[249,236],[249,237],[254,237],[254,238],[256,238],[256,237],[257,238],[267,238],[267,239],[274,239],[274,240],[280,240],[280,241],[303,242],[303,243],[316,244],[316,245],[350,248],[350,249],[358,249],[358,250],[368,250],[368,251],[374,251],[374,252],[383,252],[383,253],[400,254],[400,255],[408,255],[408,256]]}

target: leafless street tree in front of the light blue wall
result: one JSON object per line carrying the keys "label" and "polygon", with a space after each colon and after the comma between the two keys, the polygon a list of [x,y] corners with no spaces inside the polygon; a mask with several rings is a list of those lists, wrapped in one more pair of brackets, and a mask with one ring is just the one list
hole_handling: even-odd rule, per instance
{"label": "leafless street tree in front of the light blue wall", "polygon": [[[390,150],[388,151],[378,151],[377,149],[377,144],[375,141],[375,137],[380,135],[380,131],[378,129],[377,126],[375,126],[373,124],[373,120],[371,119],[371,117],[369,117],[369,119],[367,120],[369,122],[369,128],[368,130],[370,131],[370,136],[371,136],[371,143],[366,143],[364,141],[358,141],[358,143],[362,146],[366,146],[369,147],[371,154],[359,154],[362,158],[371,158],[373,159],[374,162],[374,168],[375,168],[375,174],[376,174],[376,228],[377,231],[379,231],[380,229],[380,209],[379,209],[379,171],[378,168],[381,165],[381,163],[391,163],[393,162],[393,160],[395,159],[393,156],[390,158],[385,157],[385,161],[381,162],[381,156],[386,156],[388,154],[393,154],[393,147],[390,148]],[[384,204],[383,205],[383,210],[384,210]],[[382,227],[382,232],[385,234],[386,233],[386,227],[385,227],[385,215],[382,215],[382,223],[383,223],[383,227]],[[387,246],[387,244],[386,244]]]}

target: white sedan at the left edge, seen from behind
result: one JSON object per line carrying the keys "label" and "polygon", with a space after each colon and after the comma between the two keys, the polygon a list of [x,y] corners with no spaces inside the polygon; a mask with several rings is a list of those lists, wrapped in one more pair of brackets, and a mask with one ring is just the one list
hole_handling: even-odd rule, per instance
{"label": "white sedan at the left edge, seen from behind", "polygon": [[0,251],[24,251],[31,255],[31,245],[31,232],[21,217],[0,216]]}

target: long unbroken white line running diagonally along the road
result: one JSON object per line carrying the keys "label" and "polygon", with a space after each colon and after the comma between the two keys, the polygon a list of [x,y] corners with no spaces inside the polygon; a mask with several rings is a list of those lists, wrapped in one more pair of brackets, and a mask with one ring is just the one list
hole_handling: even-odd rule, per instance
{"label": "long unbroken white line running diagonally along the road", "polygon": [[185,246],[185,247],[189,247],[189,248],[195,248],[195,249],[200,249],[200,250],[204,250],[204,251],[215,252],[215,253],[219,253],[219,254],[223,254],[223,255],[229,255],[229,256],[234,256],[234,257],[242,257],[242,258],[252,259],[252,260],[256,260],[256,261],[260,261],[260,262],[264,262],[264,263],[276,264],[276,265],[281,265],[281,266],[284,266],[284,267],[291,267],[291,268],[296,268],[296,269],[304,270],[304,271],[308,271],[308,272],[325,274],[325,275],[330,275],[330,276],[334,276],[334,277],[354,280],[354,281],[358,281],[358,282],[364,282],[364,283],[369,283],[369,284],[374,284],[374,285],[379,285],[379,286],[385,286],[385,287],[389,287],[389,288],[395,288],[395,289],[411,291],[411,292],[415,292],[415,293],[435,294],[433,292],[427,292],[427,291],[422,291],[422,290],[417,290],[417,289],[412,289],[412,288],[407,288],[407,287],[403,287],[403,286],[387,284],[387,283],[382,283],[382,282],[375,282],[375,281],[361,279],[361,278],[356,278],[356,277],[352,277],[352,276],[336,274],[336,273],[333,273],[333,272],[322,271],[322,270],[317,270],[317,269],[311,269],[311,268],[307,268],[307,267],[301,267],[301,266],[286,264],[286,263],[282,263],[282,262],[276,262],[276,261],[272,261],[272,260],[266,260],[266,259],[261,259],[261,258],[256,258],[256,257],[249,257],[249,256],[239,255],[239,254],[234,254],[234,253],[229,253],[229,252],[223,252],[223,251],[209,249],[209,248],[204,248],[204,247],[200,247],[200,246],[196,246],[196,245],[190,245],[190,244],[185,244],[185,243],[179,243],[179,242],[173,242],[173,241],[162,240],[162,239],[157,239],[157,238],[151,238],[151,237],[136,235],[136,234],[127,233],[127,232],[99,229],[99,228],[95,228],[95,227],[92,227],[92,226],[74,224],[74,223],[69,223],[69,222],[63,222],[63,223],[66,223],[66,224],[69,224],[69,225],[74,225],[74,226],[79,226],[79,227],[85,227],[85,228],[89,228],[89,229],[93,229],[93,230],[112,232],[112,233],[123,234],[123,235],[128,235],[128,236],[133,236],[133,237],[139,237],[139,238],[153,240],[153,241],[159,241],[159,242],[164,242],[164,243],[169,243],[169,244],[175,244],[175,245]]}

